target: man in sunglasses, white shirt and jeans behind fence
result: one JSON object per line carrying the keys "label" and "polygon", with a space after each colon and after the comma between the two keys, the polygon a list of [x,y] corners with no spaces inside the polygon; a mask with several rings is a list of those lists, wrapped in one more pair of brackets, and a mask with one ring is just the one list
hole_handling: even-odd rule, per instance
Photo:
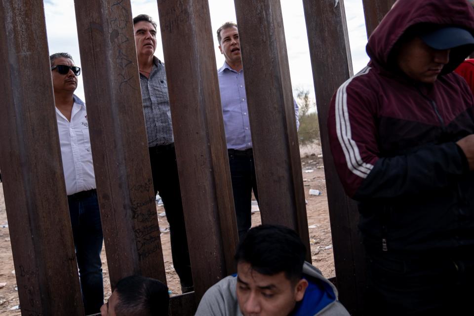
{"label": "man in sunglasses, white shirt and jeans behind fence", "polygon": [[68,53],[49,56],[69,215],[79,267],[85,315],[100,312],[102,227],[85,104],[75,94],[80,68]]}

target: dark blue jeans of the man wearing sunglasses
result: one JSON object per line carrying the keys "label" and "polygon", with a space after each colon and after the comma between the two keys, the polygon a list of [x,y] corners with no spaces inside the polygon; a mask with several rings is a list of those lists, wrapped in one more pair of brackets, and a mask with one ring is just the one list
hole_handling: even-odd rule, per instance
{"label": "dark blue jeans of the man wearing sunglasses", "polygon": [[104,304],[100,260],[103,236],[97,192],[76,193],[68,196],[68,202],[85,315],[100,313],[100,307]]}

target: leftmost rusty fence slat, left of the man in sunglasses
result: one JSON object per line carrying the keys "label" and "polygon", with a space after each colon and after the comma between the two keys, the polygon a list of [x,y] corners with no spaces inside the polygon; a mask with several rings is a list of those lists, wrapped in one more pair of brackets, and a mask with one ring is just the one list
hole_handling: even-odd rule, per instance
{"label": "leftmost rusty fence slat, left of the man in sunglasses", "polygon": [[0,164],[22,315],[84,315],[43,1],[0,1]]}

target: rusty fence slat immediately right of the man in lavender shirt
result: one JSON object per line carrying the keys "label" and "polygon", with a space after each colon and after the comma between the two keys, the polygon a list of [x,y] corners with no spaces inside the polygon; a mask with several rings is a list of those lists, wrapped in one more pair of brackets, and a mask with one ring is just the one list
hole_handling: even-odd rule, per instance
{"label": "rusty fence slat immediately right of the man in lavender shirt", "polygon": [[235,1],[262,222],[295,229],[311,261],[279,0]]}

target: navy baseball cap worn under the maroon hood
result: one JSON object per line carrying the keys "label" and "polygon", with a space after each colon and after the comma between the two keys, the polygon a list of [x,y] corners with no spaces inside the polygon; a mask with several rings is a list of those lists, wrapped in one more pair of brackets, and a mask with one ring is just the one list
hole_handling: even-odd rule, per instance
{"label": "navy baseball cap worn under the maroon hood", "polygon": [[431,48],[443,50],[474,44],[473,35],[462,28],[445,27],[420,36]]}

